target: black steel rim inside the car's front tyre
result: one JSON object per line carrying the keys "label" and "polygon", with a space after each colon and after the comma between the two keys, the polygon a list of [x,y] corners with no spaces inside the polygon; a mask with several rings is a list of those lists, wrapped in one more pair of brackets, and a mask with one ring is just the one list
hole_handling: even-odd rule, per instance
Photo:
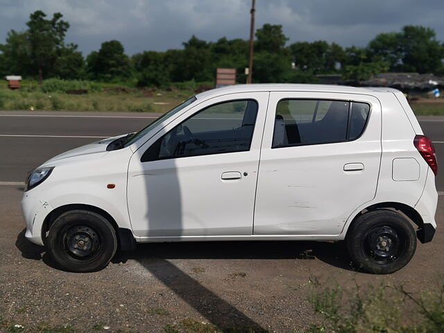
{"label": "black steel rim inside the car's front tyre", "polygon": [[86,259],[98,252],[101,239],[93,228],[87,225],[74,225],[65,232],[64,246],[71,257]]}

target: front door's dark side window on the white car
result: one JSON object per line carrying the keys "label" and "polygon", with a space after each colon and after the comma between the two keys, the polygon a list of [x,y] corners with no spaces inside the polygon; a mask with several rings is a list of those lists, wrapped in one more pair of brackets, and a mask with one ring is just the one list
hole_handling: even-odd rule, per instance
{"label": "front door's dark side window on the white car", "polygon": [[256,116],[253,100],[212,105],[157,139],[142,162],[249,151]]}

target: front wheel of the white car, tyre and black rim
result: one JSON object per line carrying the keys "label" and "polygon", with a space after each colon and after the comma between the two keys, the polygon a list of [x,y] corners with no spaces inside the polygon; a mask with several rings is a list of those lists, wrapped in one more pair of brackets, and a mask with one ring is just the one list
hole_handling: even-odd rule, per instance
{"label": "front wheel of the white car, tyre and black rim", "polygon": [[100,214],[71,210],[58,216],[46,239],[49,255],[71,272],[100,271],[117,250],[116,232]]}

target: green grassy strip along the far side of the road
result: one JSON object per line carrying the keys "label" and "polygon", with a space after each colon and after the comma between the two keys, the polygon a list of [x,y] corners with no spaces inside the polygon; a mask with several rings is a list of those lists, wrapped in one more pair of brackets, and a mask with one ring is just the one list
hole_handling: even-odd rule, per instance
{"label": "green grassy strip along the far side of the road", "polygon": [[[172,83],[170,92],[155,90],[148,98],[144,88],[131,87],[128,82],[102,83],[88,80],[60,80],[49,78],[37,85],[35,80],[23,80],[22,87],[17,90],[7,89],[6,83],[0,85],[0,110],[45,110],[45,111],[121,111],[121,112],[166,112],[187,97],[195,94],[194,90],[200,85],[211,85],[210,82],[198,83],[190,80]],[[114,88],[114,89],[113,89]],[[67,90],[87,89],[86,95],[69,95]],[[103,90],[105,89],[105,90]],[[106,90],[108,89],[108,90]],[[125,93],[119,92],[124,89]],[[173,92],[171,92],[171,90]],[[176,92],[174,92],[176,91]],[[160,93],[161,97],[156,97]],[[171,100],[177,96],[177,101]],[[167,97],[169,104],[159,106],[156,101],[163,102]],[[174,105],[173,105],[174,104]],[[413,112],[417,115],[444,116],[444,103],[427,104],[411,103]]]}

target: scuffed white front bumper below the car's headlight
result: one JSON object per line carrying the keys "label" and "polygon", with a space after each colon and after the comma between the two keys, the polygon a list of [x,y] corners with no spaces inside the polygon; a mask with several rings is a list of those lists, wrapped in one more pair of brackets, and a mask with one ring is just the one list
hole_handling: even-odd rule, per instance
{"label": "scuffed white front bumper below the car's headlight", "polygon": [[37,189],[24,192],[22,212],[26,222],[25,237],[37,245],[44,245],[42,226],[46,216],[53,210],[51,205],[42,200],[42,192]]}

